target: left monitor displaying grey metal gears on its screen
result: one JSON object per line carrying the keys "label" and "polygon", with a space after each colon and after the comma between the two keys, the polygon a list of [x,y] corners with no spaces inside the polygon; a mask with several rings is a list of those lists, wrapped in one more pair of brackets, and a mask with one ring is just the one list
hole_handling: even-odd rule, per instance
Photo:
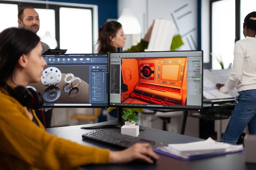
{"label": "left monitor displaying grey metal gears on its screen", "polygon": [[38,83],[43,107],[108,107],[108,54],[44,54]]}

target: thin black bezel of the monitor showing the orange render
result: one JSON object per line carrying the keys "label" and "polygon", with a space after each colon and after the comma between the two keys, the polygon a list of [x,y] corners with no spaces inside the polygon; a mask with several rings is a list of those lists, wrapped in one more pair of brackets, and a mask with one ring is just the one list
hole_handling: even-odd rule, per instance
{"label": "thin black bezel of the monitor showing the orange render", "polygon": [[[149,54],[149,53],[162,53],[163,55],[164,54],[167,54],[167,53],[173,53],[173,55],[177,54],[177,55],[182,55],[182,54],[186,54],[186,53],[201,53],[201,56],[202,56],[202,60],[201,60],[201,68],[200,68],[200,71],[202,73],[201,75],[201,89],[200,89],[200,93],[202,94],[203,93],[203,51],[202,50],[196,50],[196,51],[148,51],[148,52],[124,52],[124,53],[110,53],[110,81],[111,81],[111,64],[112,64],[112,60],[114,57],[114,55],[117,55],[117,54],[120,54],[122,56],[118,57],[118,58],[136,58],[136,55],[146,55],[146,54]],[[148,55],[146,55],[148,56]],[[162,56],[161,56],[162,57]],[[163,56],[164,57],[164,56]],[[168,57],[168,56],[166,56]],[[173,56],[174,57],[174,56]],[[177,56],[177,57],[187,57],[185,55],[182,55],[182,56]],[[121,81],[121,80],[120,80]],[[111,88],[111,82],[110,82],[110,88]],[[110,93],[111,93],[111,90],[110,90]],[[147,109],[175,109],[175,110],[201,110],[202,109],[202,106],[203,106],[203,94],[200,96],[200,105],[198,106],[190,106],[190,105],[169,105],[168,107],[167,106],[163,106],[163,105],[159,105],[159,104],[143,104],[143,105],[140,105],[140,104],[126,104],[126,103],[122,103],[121,102],[121,97],[120,97],[120,103],[117,103],[117,102],[112,102],[112,95],[109,94],[110,96],[110,100],[109,100],[109,106],[110,107],[122,107],[122,108],[147,108]],[[114,97],[113,97],[114,98]]]}

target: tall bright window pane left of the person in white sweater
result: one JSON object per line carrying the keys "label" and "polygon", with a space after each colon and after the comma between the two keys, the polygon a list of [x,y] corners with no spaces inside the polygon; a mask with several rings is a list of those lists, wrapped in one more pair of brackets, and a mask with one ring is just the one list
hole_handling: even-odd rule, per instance
{"label": "tall bright window pane left of the person in white sweater", "polygon": [[[228,10],[227,10],[228,9]],[[236,38],[236,4],[235,0],[220,0],[212,3],[211,15],[212,69],[222,69],[233,63],[233,51]]]}

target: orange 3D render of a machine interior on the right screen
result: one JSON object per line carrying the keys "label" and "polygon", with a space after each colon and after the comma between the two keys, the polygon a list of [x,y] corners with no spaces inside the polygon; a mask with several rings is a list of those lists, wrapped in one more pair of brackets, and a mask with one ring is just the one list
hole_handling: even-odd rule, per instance
{"label": "orange 3D render of a machine interior on the right screen", "polygon": [[122,59],[122,103],[186,104],[186,58]]}

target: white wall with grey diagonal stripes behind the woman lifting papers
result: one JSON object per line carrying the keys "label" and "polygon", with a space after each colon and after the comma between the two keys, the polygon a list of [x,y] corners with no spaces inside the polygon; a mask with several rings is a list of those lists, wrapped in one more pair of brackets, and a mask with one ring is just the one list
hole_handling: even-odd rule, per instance
{"label": "white wall with grey diagonal stripes behind the woman lifting papers", "polygon": [[[204,62],[209,62],[209,1],[202,0],[202,50],[204,51]],[[178,50],[198,49],[197,28],[197,0],[118,0],[118,16],[122,9],[129,7],[141,23],[141,34],[137,37],[143,38],[153,19],[165,19],[176,22],[174,34],[182,35],[184,45]],[[173,15],[173,17],[172,17]],[[184,16],[183,16],[184,15]],[[182,17],[183,16],[183,17]],[[177,29],[178,28],[178,29]],[[132,44],[126,43],[127,47]],[[124,48],[125,49],[125,48]]]}

